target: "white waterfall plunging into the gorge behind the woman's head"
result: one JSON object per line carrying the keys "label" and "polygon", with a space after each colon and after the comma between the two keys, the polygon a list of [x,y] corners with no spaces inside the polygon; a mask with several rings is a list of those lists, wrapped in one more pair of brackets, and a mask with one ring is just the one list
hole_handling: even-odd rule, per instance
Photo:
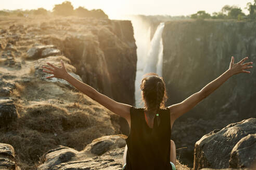
{"label": "white waterfall plunging into the gorge behind the woman's head", "polygon": [[[133,22],[133,21],[132,21]],[[144,29],[133,22],[134,37],[137,45],[137,72],[135,79],[135,104],[136,107],[143,107],[141,100],[140,83],[146,73],[157,73],[162,76],[163,44],[162,32],[164,23],[160,23],[150,41],[150,27],[145,34]]]}

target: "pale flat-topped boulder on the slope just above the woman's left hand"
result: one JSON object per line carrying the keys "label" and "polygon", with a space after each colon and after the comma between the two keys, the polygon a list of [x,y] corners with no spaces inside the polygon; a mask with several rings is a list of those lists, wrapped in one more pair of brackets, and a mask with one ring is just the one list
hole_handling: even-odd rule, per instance
{"label": "pale flat-topped boulder on the slope just above the woman's left hand", "polygon": [[54,45],[34,46],[27,51],[28,59],[39,59],[50,55],[58,55],[60,50],[55,49]]}

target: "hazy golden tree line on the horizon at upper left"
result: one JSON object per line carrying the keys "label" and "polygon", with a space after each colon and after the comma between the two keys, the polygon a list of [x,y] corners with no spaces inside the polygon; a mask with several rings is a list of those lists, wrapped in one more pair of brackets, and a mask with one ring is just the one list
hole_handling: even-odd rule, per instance
{"label": "hazy golden tree line on the horizon at upper left", "polygon": [[37,8],[32,10],[0,10],[0,15],[10,16],[16,15],[18,17],[24,17],[26,15],[56,15],[56,16],[79,16],[79,17],[93,17],[93,18],[105,18],[108,19],[106,13],[101,9],[88,10],[84,7],[78,7],[74,9],[73,5],[69,1],[65,1],[62,4],[54,5],[54,8],[51,11],[48,11],[44,8]]}

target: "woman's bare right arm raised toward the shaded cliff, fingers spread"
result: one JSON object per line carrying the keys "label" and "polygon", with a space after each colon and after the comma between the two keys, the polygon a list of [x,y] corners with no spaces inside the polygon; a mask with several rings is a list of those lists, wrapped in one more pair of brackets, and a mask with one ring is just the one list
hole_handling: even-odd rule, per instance
{"label": "woman's bare right arm raised toward the shaded cliff, fingers spread", "polygon": [[203,100],[203,98],[206,98],[213,91],[219,88],[228,78],[239,73],[249,74],[250,72],[245,69],[252,68],[252,66],[248,66],[252,64],[252,62],[242,64],[247,59],[248,57],[234,64],[234,56],[232,56],[231,63],[229,64],[229,68],[221,76],[219,76],[215,80],[208,83],[199,92],[186,98],[186,100],[184,100],[183,102],[169,106],[168,108],[170,109],[170,113],[171,113],[171,124],[173,124],[174,120],[176,120],[178,117],[182,116],[187,111],[189,111],[194,106],[196,106],[201,100]]}

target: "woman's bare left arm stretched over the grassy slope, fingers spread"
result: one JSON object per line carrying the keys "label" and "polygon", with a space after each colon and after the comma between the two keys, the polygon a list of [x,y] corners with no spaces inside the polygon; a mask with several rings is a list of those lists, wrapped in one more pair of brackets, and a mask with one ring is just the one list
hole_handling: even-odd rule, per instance
{"label": "woman's bare left arm stretched over the grassy slope, fingers spread", "polygon": [[66,81],[68,81],[72,86],[74,86],[79,91],[86,94],[88,97],[92,98],[94,101],[98,102],[99,104],[105,106],[107,109],[112,111],[114,114],[117,114],[123,118],[125,118],[127,121],[130,120],[130,108],[132,106],[116,102],[109,98],[108,96],[99,93],[97,90],[92,88],[91,86],[88,86],[87,84],[83,83],[82,81],[79,81],[78,79],[75,79],[70,74],[68,74],[66,67],[61,60],[62,67],[56,67],[53,64],[47,63],[48,66],[43,66],[44,69],[43,72],[53,74],[53,76],[48,76],[46,78],[61,78]]}

